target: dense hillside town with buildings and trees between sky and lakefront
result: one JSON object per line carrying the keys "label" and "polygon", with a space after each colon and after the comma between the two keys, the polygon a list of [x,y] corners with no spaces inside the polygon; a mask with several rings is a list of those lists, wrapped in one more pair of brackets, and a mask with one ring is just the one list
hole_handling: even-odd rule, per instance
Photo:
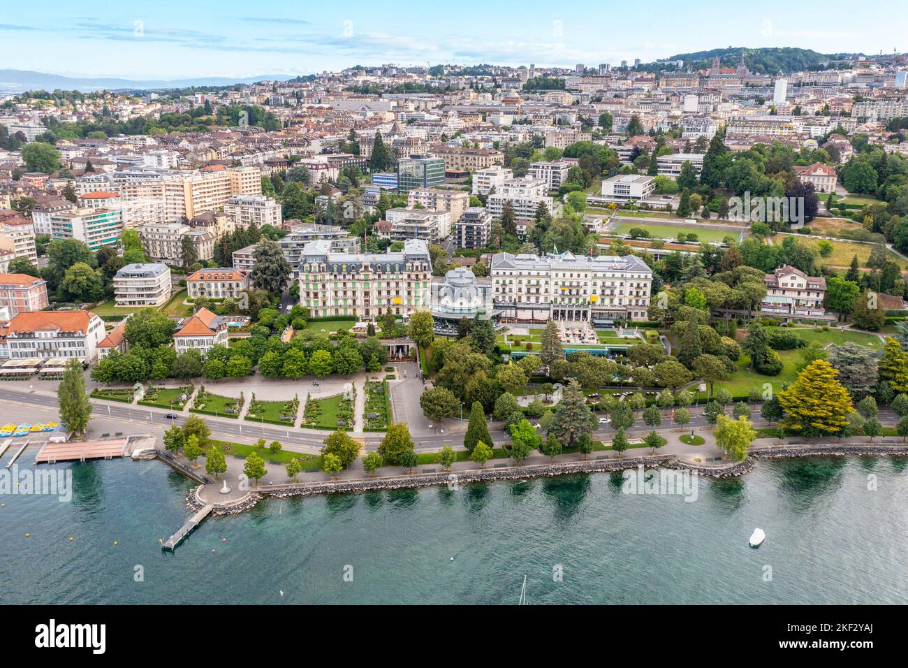
{"label": "dense hillside town with buildings and trees between sky and lakefront", "polygon": [[908,62],[786,53],[4,94],[0,381],[283,425],[294,480],[908,432]]}

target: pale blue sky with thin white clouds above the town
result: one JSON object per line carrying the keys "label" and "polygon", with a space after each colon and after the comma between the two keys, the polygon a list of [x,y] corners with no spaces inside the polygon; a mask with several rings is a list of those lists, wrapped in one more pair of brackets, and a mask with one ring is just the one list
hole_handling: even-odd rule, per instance
{"label": "pale blue sky with thin white clouds above the town", "polygon": [[572,66],[720,46],[908,50],[903,2],[3,0],[0,68],[173,79],[348,65]]}

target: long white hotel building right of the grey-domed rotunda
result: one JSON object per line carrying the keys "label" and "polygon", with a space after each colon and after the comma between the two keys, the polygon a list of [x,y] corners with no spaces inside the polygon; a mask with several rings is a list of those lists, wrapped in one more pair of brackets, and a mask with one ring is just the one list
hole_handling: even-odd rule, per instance
{"label": "long white hotel building right of the grey-domed rotunda", "polygon": [[489,269],[503,317],[528,322],[647,318],[653,272],[636,255],[497,253]]}

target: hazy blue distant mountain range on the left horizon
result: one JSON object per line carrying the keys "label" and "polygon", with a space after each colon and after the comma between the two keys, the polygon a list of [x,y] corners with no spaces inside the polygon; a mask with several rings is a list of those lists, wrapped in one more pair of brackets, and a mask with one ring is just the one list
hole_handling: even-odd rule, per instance
{"label": "hazy blue distant mountain range on the left horizon", "polygon": [[212,86],[233,84],[254,84],[257,81],[286,81],[291,75],[246,76],[232,79],[227,76],[206,76],[197,79],[173,79],[173,81],[138,81],[134,79],[74,78],[48,75],[29,70],[0,69],[0,93],[25,93],[25,91],[82,91],[91,93],[99,90],[157,90],[165,88],[188,88],[190,86]]}

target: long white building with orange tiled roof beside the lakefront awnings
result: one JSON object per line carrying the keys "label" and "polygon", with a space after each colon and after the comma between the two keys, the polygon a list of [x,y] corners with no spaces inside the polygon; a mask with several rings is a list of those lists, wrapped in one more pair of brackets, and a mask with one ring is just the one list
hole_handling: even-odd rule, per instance
{"label": "long white building with orange tiled roof beside the lakefront awnings", "polygon": [[64,357],[91,364],[104,337],[104,321],[91,311],[34,311],[10,321],[6,346],[10,359]]}

